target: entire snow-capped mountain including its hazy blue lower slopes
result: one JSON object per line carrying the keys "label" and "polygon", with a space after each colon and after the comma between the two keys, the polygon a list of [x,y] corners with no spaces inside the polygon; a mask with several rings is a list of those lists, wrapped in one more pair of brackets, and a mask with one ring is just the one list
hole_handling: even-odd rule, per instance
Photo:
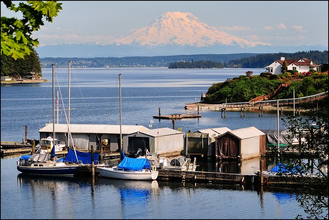
{"label": "entire snow-capped mountain including its hazy blue lower slopes", "polygon": [[191,13],[167,12],[149,26],[112,42],[84,42],[36,48],[40,58],[171,56],[180,54],[278,53],[327,50],[325,46],[274,46],[230,35]]}

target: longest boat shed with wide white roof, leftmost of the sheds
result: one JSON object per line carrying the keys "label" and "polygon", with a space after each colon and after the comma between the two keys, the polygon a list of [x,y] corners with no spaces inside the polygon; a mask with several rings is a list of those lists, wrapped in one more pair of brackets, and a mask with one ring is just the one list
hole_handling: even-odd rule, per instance
{"label": "longest boat shed with wide white roof, leftmost of the sheds", "polygon": [[[67,124],[54,124],[55,138],[67,142]],[[141,125],[121,125],[122,137],[136,132],[148,131]],[[115,152],[120,145],[120,125],[114,124],[70,124],[69,132],[77,150],[100,150]],[[39,130],[40,139],[52,137],[52,123],[46,124]],[[72,141],[70,140],[70,146]]]}

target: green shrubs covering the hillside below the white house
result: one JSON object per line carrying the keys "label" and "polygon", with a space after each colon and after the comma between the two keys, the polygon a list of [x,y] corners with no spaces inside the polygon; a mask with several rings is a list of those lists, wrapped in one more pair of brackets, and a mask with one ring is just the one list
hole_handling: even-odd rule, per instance
{"label": "green shrubs covering the hillside below the white house", "polygon": [[[272,77],[273,76],[273,77]],[[289,72],[281,75],[261,74],[259,76],[240,76],[225,82],[214,83],[208,89],[205,103],[219,104],[231,102],[248,102],[261,95],[268,95],[283,82],[291,84],[281,93],[271,99],[311,96],[328,91],[328,74],[314,72],[310,76],[302,74],[291,75]]]}

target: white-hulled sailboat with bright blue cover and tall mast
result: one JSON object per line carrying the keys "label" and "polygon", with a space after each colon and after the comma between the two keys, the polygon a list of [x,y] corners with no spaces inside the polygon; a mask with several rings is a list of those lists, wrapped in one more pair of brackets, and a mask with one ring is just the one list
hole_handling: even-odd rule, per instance
{"label": "white-hulled sailboat with bright blue cover and tall mast", "polygon": [[126,180],[155,180],[159,171],[152,170],[147,158],[126,157],[122,151],[122,131],[121,131],[121,74],[119,74],[120,87],[120,163],[114,167],[98,167],[99,173],[103,177],[126,179]]}

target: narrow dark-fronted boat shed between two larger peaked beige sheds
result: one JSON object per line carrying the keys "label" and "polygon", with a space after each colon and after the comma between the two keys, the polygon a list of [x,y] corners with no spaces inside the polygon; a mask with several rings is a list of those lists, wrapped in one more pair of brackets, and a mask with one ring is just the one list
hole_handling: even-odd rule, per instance
{"label": "narrow dark-fronted boat shed between two larger peaked beige sheds", "polygon": [[208,158],[216,158],[216,137],[231,131],[228,127],[215,127],[213,129],[202,129],[196,132],[188,132],[186,135],[186,150],[189,156],[200,155]]}

